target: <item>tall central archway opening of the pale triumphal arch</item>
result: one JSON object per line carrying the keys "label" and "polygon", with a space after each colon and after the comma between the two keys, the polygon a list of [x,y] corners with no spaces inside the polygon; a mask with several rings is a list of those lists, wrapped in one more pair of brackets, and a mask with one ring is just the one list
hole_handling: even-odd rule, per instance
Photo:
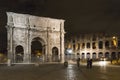
{"label": "tall central archway opening of the pale triumphal arch", "polygon": [[39,37],[34,38],[31,42],[31,62],[42,62],[44,54],[43,41]]}

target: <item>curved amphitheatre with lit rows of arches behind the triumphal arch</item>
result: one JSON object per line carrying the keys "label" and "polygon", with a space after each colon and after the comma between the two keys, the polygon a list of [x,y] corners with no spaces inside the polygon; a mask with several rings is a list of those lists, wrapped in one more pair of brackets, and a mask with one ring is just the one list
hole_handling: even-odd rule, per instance
{"label": "curved amphitheatre with lit rows of arches behind the triumphal arch", "polygon": [[[97,33],[81,34],[71,37],[65,41],[66,51],[71,49],[72,55],[79,55],[81,59],[119,59],[120,58],[120,36]],[[69,54],[69,52],[66,52]]]}

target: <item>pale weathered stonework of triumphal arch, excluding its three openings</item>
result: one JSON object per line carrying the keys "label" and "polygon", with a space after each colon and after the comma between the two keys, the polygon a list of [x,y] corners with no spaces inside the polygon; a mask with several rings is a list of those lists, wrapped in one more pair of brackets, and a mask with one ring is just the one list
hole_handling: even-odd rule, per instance
{"label": "pale weathered stonework of triumphal arch, excluding its three openings", "polygon": [[56,47],[59,60],[63,60],[59,56],[64,57],[64,20],[13,12],[7,12],[7,17],[8,58],[12,62],[16,62],[16,47],[20,45],[24,49],[23,63],[29,63],[31,43],[37,37],[45,48],[44,57],[53,55]]}

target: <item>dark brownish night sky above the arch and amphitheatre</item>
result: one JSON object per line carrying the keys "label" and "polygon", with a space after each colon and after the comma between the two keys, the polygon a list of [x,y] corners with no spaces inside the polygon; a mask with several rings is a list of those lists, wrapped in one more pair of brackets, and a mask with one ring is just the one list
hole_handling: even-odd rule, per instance
{"label": "dark brownish night sky above the arch and amphitheatre", "polygon": [[0,0],[2,36],[6,35],[6,11],[65,19],[66,36],[120,32],[120,0]]}

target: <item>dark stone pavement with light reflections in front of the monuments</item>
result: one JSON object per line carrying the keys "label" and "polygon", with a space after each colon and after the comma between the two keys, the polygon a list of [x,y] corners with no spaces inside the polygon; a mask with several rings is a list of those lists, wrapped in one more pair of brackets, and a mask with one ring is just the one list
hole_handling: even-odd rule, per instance
{"label": "dark stone pavement with light reflections in front of the monuments", "polygon": [[120,67],[93,66],[87,69],[85,65],[79,68],[76,64],[17,64],[13,66],[0,65],[0,80],[120,80]]}

